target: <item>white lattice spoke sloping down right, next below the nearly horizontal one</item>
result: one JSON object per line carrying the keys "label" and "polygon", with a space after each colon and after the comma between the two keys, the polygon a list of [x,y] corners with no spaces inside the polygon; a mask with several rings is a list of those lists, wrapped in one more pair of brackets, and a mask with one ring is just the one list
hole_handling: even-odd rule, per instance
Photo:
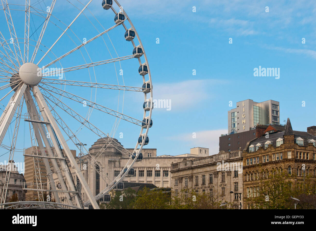
{"label": "white lattice spoke sloping down right, next below the nearly horizontal one", "polygon": [[[117,111],[115,111],[115,110],[112,110],[112,109],[110,109],[110,108],[108,108],[108,107],[105,107],[105,106],[102,106],[102,105],[100,105],[100,104],[97,104],[97,103],[95,103],[95,102],[92,102],[92,101],[90,101],[90,100],[88,100],[88,99],[85,99],[85,98],[82,98],[82,97],[80,97],[80,96],[71,94],[70,92],[67,92],[67,91],[65,91],[65,90],[58,89],[58,88],[56,88],[56,87],[53,87],[52,85],[49,85],[49,84],[44,84],[44,85],[46,85],[46,86],[48,86],[48,87],[51,87],[51,88],[57,90],[57,92],[56,92],[56,91],[50,89],[50,91],[53,92],[53,93],[55,93],[55,94],[60,95],[60,94],[58,93],[58,91],[62,91],[62,92],[63,92],[63,97],[66,97],[66,98],[71,99],[71,100],[73,100],[73,101],[79,102],[79,103],[81,103],[81,104],[84,104],[84,101],[86,101],[86,103],[90,103],[90,104],[86,104],[86,105],[89,106],[89,107],[95,108],[95,109],[97,109],[97,110],[99,110],[99,111],[101,111],[101,112],[105,112],[105,113],[107,113],[107,114],[109,114],[109,115],[112,115],[112,116],[115,116],[115,117],[117,117],[117,118],[124,119],[124,120],[126,120],[126,121],[128,121],[128,122],[131,122],[132,124],[136,124],[136,125],[142,126],[142,121],[140,121],[140,120],[138,120],[138,119],[135,119],[135,118],[130,117],[130,116],[128,116],[128,115],[125,115],[125,114],[123,114],[123,113],[117,112]],[[43,88],[43,87],[41,87],[41,88]]]}

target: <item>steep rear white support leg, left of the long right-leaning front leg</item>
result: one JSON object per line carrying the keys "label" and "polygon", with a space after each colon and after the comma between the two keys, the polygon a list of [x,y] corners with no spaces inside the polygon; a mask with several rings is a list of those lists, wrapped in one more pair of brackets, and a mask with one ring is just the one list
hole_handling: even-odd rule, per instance
{"label": "steep rear white support leg, left of the long right-leaning front leg", "polygon": [[[32,97],[31,97],[31,94],[30,94],[30,92],[29,92],[28,90],[25,91],[24,97],[25,97],[25,102],[26,102],[26,105],[27,105],[27,112],[28,112],[28,114],[31,116],[31,114],[35,114],[37,110],[36,110],[34,101],[33,101]],[[37,113],[36,113],[36,114],[37,114]],[[33,128],[34,128],[34,133],[35,133],[35,137],[36,137],[36,139],[37,139],[37,143],[38,143],[38,145],[39,145],[39,147],[40,147],[40,150],[41,150],[42,155],[44,155],[44,153],[45,153],[45,151],[44,151],[45,148],[44,148],[44,145],[43,145],[41,136],[40,136],[40,129],[39,129],[39,127],[42,128],[42,126],[40,126],[40,125],[37,124],[37,123],[32,123],[32,125],[33,125]],[[43,128],[42,128],[42,129],[43,129]],[[43,138],[43,140],[44,140],[44,138]],[[49,148],[49,146],[48,146],[47,148]],[[59,197],[58,197],[58,192],[55,192],[55,191],[56,191],[56,185],[55,185],[55,182],[54,182],[54,178],[53,178],[53,176],[52,176],[52,170],[51,170],[51,168],[50,168],[50,166],[49,166],[48,159],[46,159],[46,158],[42,158],[42,159],[43,159],[43,162],[44,162],[44,165],[45,165],[45,168],[46,168],[46,172],[47,172],[47,176],[48,176],[50,185],[51,185],[51,187],[52,187],[52,190],[54,190],[54,191],[53,191],[53,194],[54,194],[55,201],[56,201],[57,203],[60,203],[60,200],[59,200]],[[55,162],[56,162],[56,160],[55,160]],[[55,164],[55,163],[54,163],[54,164]],[[57,162],[56,162],[56,165],[54,165],[54,167],[55,167],[55,166],[58,166],[58,165],[57,165]],[[63,179],[63,178],[61,178],[61,179]],[[66,190],[66,187],[64,187],[64,188],[65,188],[65,189],[63,189],[63,190]],[[45,199],[45,198],[44,198],[44,199]],[[69,200],[70,200],[70,196],[69,196]]]}

